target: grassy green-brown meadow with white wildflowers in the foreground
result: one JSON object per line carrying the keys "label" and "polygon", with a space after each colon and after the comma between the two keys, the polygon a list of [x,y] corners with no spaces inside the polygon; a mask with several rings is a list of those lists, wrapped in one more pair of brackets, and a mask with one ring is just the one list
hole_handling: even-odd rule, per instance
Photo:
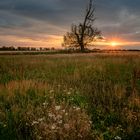
{"label": "grassy green-brown meadow with white wildflowers in the foreground", "polygon": [[0,140],[140,139],[140,53],[0,56]]}

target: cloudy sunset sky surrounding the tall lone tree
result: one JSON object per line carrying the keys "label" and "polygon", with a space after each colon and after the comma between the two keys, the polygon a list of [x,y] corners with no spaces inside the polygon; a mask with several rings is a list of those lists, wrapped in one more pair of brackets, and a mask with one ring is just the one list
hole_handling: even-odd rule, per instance
{"label": "cloudy sunset sky surrounding the tall lone tree", "polygon": [[[94,24],[106,40],[140,49],[140,0],[94,1]],[[0,0],[0,46],[61,47],[71,24],[83,20],[87,4],[88,0]]]}

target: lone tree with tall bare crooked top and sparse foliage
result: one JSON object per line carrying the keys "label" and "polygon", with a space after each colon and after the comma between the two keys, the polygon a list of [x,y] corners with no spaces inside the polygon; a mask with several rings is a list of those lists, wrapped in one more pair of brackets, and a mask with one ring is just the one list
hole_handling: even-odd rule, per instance
{"label": "lone tree with tall bare crooked top and sparse foliage", "polygon": [[91,42],[95,41],[95,37],[100,36],[101,32],[93,26],[96,20],[93,2],[93,0],[89,0],[83,23],[79,23],[79,25],[73,24],[71,26],[71,32],[67,32],[64,35],[64,47],[80,48],[81,52],[84,52],[85,48]]}

